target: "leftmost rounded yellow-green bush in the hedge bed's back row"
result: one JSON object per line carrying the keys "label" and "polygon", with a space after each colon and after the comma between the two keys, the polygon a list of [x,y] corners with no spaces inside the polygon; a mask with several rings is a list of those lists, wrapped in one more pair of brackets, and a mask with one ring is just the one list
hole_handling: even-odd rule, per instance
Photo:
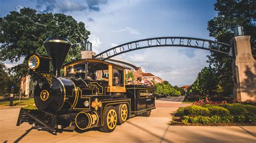
{"label": "leftmost rounded yellow-green bush in the hedge bed's back row", "polygon": [[190,116],[208,116],[210,115],[210,111],[207,108],[198,106],[198,105],[191,105],[187,106],[184,109],[185,115]]}

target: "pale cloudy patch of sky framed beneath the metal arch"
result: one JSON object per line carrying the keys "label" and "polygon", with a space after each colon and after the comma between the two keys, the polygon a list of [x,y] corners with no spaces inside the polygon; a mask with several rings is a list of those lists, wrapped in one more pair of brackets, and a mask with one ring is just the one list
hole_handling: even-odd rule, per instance
{"label": "pale cloudy patch of sky framed beneath the metal arch", "polygon": [[[196,49],[193,58],[179,52],[179,48],[151,48],[144,52],[130,52],[123,57],[136,66],[169,81],[172,85],[192,84],[205,66],[207,51]],[[128,55],[129,54],[129,55]]]}

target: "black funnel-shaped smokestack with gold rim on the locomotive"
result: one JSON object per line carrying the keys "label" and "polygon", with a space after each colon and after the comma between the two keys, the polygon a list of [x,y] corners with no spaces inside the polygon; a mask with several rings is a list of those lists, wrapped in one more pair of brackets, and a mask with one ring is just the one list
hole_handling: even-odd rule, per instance
{"label": "black funnel-shaped smokestack with gold rim on the locomotive", "polygon": [[60,68],[62,68],[71,45],[71,42],[65,38],[50,37],[44,41],[45,49],[52,58],[51,63],[54,76],[60,75]]}

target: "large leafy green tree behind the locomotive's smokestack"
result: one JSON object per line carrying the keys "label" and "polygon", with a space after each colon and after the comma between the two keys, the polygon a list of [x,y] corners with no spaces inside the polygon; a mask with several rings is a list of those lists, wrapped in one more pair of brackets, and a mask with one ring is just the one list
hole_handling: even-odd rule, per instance
{"label": "large leafy green tree behind the locomotive's smokestack", "polygon": [[37,13],[36,10],[23,8],[19,12],[11,11],[0,18],[0,60],[19,61],[21,65],[12,68],[18,78],[28,74],[27,57],[32,53],[46,54],[43,46],[48,37],[67,38],[73,44],[65,62],[80,59],[80,51],[90,34],[83,22],[77,22],[71,16],[62,13]]}

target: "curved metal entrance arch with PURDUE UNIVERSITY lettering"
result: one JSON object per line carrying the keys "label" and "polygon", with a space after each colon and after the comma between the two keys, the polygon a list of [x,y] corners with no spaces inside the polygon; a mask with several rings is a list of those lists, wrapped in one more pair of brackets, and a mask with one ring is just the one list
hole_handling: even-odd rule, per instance
{"label": "curved metal entrance arch with PURDUE UNIVERSITY lettering", "polygon": [[107,60],[116,55],[151,47],[190,47],[233,56],[231,45],[223,42],[191,37],[156,37],[127,42],[107,49],[106,51],[93,56],[93,58]]}

